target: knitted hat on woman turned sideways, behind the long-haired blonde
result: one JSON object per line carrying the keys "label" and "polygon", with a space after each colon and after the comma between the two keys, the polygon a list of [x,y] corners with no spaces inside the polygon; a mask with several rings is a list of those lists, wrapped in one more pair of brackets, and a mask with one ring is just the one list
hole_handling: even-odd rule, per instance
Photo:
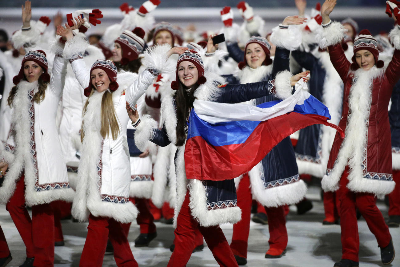
{"label": "knitted hat on woman turned sideways, behind the long-haired blonde", "polygon": [[121,65],[126,65],[138,58],[144,48],[144,34],[142,28],[136,27],[132,32],[124,30],[120,37],[116,38],[115,42],[120,44],[122,48]]}

